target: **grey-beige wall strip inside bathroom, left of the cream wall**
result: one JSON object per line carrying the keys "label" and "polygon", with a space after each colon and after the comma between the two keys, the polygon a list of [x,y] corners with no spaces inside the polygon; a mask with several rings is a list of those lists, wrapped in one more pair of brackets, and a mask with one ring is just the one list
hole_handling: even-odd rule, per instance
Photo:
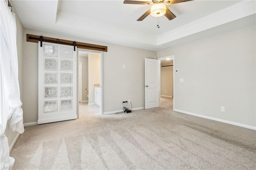
{"label": "grey-beige wall strip inside bathroom, left of the cream wall", "polygon": [[82,62],[82,100],[88,101],[88,55],[81,56],[79,54],[79,62]]}

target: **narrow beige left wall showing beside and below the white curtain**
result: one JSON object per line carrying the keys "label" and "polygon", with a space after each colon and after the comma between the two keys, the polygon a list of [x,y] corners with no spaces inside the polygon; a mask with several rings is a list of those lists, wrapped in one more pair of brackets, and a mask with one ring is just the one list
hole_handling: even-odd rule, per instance
{"label": "narrow beige left wall showing beside and below the white curtain", "polygon": [[[16,13],[15,8],[12,8],[12,11]],[[16,13],[16,27],[17,27],[17,52],[18,52],[18,79],[20,85],[20,99],[23,102],[23,26],[20,22],[20,18]],[[23,106],[22,106],[23,108]],[[5,135],[8,138],[8,144],[10,147],[13,147],[14,141],[17,138],[18,132],[12,131],[9,128],[10,120],[7,123],[5,130]]]}

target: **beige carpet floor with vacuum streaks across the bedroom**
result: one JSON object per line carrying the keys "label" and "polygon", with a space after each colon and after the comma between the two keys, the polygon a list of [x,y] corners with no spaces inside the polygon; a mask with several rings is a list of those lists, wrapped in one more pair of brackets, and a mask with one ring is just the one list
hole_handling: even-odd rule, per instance
{"label": "beige carpet floor with vacuum streaks across the bedroom", "polygon": [[256,169],[256,131],[162,107],[25,127],[13,169]]}

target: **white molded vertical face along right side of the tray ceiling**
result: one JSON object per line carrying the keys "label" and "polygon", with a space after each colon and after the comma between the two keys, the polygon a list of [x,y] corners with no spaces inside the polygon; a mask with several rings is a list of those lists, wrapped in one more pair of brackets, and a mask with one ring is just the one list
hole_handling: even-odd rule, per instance
{"label": "white molded vertical face along right side of the tray ceiling", "polygon": [[172,42],[210,28],[244,18],[256,13],[256,2],[254,0],[244,0],[228,8],[190,22],[184,26],[166,32],[157,37],[157,45]]}

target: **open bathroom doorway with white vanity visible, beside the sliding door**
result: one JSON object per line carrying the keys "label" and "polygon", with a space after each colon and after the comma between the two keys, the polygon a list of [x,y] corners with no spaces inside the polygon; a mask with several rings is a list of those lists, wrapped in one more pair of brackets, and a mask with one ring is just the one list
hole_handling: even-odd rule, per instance
{"label": "open bathroom doorway with white vanity visible, beside the sliding door", "polygon": [[103,52],[78,49],[78,117],[103,113]]}

